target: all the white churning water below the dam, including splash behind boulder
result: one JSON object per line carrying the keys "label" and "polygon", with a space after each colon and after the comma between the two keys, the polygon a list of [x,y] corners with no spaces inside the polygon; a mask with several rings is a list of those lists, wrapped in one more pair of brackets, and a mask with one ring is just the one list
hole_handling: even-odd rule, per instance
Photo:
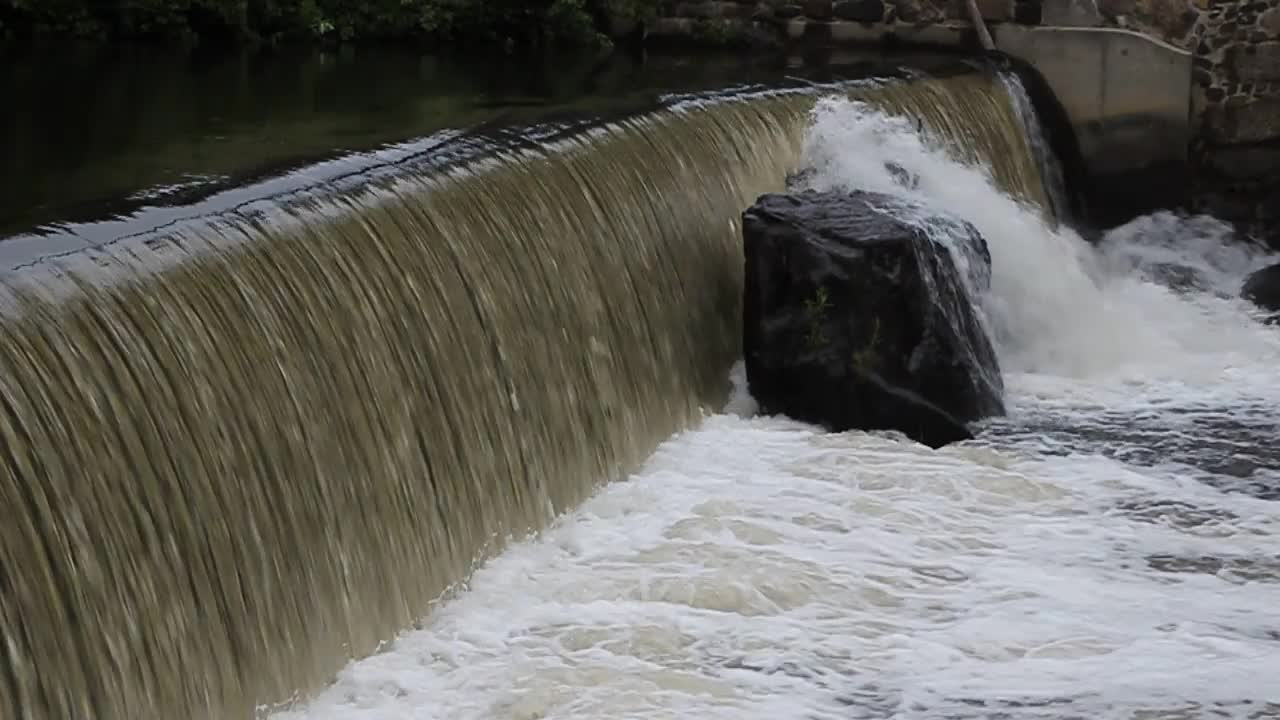
{"label": "all the white churning water below the dam, including splash behind boulder", "polygon": [[1235,300],[1266,259],[1169,214],[1093,250],[842,100],[808,156],[904,192],[892,160],[987,237],[1010,416],[938,451],[822,433],[754,416],[739,368],[730,411],[278,720],[1280,717],[1252,492],[1280,488],[1280,331]]}

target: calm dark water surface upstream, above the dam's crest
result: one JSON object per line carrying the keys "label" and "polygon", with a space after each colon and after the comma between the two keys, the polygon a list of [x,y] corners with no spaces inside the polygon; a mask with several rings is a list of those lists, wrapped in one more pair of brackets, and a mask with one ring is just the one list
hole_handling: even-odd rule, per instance
{"label": "calm dark water surface upstream, above the dam's crest", "polygon": [[[90,50],[0,56],[0,236],[91,220],[443,129],[617,114],[667,92],[837,69],[745,65],[724,56],[444,59],[408,50],[175,55]],[[955,69],[922,58],[918,64]]]}

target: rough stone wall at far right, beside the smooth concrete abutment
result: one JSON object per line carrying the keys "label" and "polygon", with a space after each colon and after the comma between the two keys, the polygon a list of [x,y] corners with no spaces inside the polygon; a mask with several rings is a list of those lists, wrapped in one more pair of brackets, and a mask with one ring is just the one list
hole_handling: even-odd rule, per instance
{"label": "rough stone wall at far right, beside the smooth concrete abutment", "polygon": [[1280,247],[1280,1],[1215,1],[1193,35],[1197,208]]}

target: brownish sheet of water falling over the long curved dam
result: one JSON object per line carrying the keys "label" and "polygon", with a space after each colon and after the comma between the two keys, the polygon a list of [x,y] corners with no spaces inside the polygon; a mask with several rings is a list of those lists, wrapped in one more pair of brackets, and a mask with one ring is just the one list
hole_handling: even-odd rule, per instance
{"label": "brownish sheet of water falling over the long curved dam", "polygon": [[[696,423],[740,352],[736,218],[833,91],[669,99],[14,263],[0,717],[311,692]],[[1048,206],[998,76],[840,92]]]}

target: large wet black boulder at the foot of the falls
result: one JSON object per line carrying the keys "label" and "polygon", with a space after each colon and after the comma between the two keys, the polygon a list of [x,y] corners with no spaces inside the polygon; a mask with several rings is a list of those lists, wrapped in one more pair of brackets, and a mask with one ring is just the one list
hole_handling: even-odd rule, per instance
{"label": "large wet black boulder at the foot of the falls", "polygon": [[987,243],[969,223],[922,213],[887,195],[817,191],[764,195],[744,213],[744,356],[764,413],[897,429],[931,447],[1004,413],[972,297],[989,286]]}

